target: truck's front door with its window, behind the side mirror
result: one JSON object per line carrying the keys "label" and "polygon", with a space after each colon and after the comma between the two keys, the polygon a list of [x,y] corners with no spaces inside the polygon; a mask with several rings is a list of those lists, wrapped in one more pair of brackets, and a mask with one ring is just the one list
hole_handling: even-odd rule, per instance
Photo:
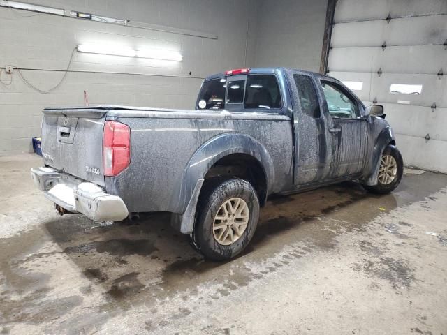
{"label": "truck's front door with its window, behind the side mirror", "polygon": [[360,103],[338,82],[322,80],[325,112],[330,115],[329,128],[332,162],[329,179],[346,177],[362,171],[367,145],[367,121],[361,118]]}

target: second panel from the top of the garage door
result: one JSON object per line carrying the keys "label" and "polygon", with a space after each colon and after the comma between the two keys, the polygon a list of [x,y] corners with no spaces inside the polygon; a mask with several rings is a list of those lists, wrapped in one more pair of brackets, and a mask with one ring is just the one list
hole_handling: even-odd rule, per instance
{"label": "second panel from the top of the garage door", "polygon": [[335,24],[332,47],[443,44],[447,35],[447,15],[411,17],[386,21]]}

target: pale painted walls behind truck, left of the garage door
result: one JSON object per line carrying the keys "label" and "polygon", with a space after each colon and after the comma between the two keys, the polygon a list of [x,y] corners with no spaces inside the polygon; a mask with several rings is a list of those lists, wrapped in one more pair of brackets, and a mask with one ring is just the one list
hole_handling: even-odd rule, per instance
{"label": "pale painted walls behind truck, left of the garage door", "polygon": [[74,52],[70,72],[50,94],[28,87],[17,70],[12,76],[3,71],[1,81],[10,84],[0,83],[0,156],[31,151],[43,107],[83,105],[84,90],[90,105],[193,108],[203,77],[211,73],[244,66],[318,70],[326,10],[325,0],[24,2],[189,29],[217,39],[0,7],[0,67],[35,69],[22,70],[22,75],[43,90],[59,82],[80,43],[154,46],[184,56],[182,62],[166,62]]}

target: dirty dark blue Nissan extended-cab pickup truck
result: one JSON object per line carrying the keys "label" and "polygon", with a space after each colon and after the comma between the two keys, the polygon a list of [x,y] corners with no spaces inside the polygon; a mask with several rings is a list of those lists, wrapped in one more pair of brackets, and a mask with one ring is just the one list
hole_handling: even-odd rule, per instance
{"label": "dirty dark blue Nissan extended-cab pickup truck", "polygon": [[242,68],[207,77],[195,110],[97,105],[43,110],[31,177],[60,214],[121,221],[172,213],[212,260],[249,244],[273,193],[346,180],[388,193],[403,161],[383,106],[332,77]]}

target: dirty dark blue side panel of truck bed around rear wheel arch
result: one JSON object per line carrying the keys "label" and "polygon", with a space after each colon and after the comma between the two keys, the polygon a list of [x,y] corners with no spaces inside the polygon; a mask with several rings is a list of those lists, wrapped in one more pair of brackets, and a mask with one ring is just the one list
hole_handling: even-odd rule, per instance
{"label": "dirty dark blue side panel of truck bed around rear wheel arch", "polygon": [[[221,134],[247,135],[262,144],[272,158],[274,181],[269,193],[290,187],[293,174],[291,121],[282,115],[243,113],[233,118],[207,118],[206,113],[177,117],[117,117],[131,128],[131,165],[117,177],[105,177],[108,193],[122,197],[129,211],[182,213],[189,201],[184,175],[191,157],[205,143]],[[233,114],[234,115],[234,114]],[[203,177],[217,159],[204,158]],[[216,159],[215,159],[216,158]],[[192,191],[192,190],[191,190]],[[189,195],[189,196],[188,196]]]}

